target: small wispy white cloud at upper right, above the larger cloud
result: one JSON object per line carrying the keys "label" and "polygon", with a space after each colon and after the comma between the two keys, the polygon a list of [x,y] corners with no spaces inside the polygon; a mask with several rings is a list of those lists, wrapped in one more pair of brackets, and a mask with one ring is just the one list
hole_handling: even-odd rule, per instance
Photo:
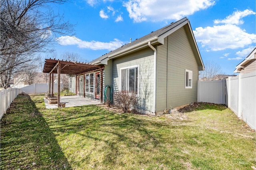
{"label": "small wispy white cloud at upper right, above the larger cloud", "polygon": [[236,11],[233,12],[230,16],[227,16],[224,20],[214,20],[214,24],[235,24],[235,25],[240,25],[244,24],[244,21],[242,18],[248,16],[248,15],[255,15],[256,13],[253,12],[252,10],[244,10],[244,11]]}

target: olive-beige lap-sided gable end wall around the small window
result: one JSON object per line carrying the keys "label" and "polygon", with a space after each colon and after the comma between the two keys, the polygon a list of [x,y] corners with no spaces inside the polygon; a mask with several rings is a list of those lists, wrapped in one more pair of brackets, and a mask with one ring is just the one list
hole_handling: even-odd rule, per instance
{"label": "olive-beige lap-sided gable end wall around the small window", "polygon": [[[184,28],[164,41],[164,45],[158,46],[157,52],[156,112],[197,101],[198,63]],[[193,72],[192,89],[185,89],[185,69]]]}

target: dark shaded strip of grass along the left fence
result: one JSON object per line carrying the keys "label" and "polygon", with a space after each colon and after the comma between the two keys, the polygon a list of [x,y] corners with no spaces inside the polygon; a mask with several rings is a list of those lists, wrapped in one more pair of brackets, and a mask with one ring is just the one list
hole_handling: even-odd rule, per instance
{"label": "dark shaded strip of grass along the left fence", "polygon": [[1,169],[71,169],[29,95],[19,95],[1,120]]}

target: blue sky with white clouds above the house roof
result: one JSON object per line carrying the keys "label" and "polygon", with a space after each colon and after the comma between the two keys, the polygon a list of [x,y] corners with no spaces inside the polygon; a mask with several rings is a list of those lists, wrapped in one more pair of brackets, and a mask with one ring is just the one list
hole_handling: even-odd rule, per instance
{"label": "blue sky with white clouds above the house roof", "polygon": [[256,46],[255,6],[255,0],[75,0],[53,6],[75,24],[75,36],[56,39],[55,52],[91,61],[187,17],[204,63],[233,74]]}

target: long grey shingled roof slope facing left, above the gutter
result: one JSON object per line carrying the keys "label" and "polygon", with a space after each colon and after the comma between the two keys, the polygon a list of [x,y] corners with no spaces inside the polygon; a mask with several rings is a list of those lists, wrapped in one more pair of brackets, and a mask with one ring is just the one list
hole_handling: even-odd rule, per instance
{"label": "long grey shingled roof slope facing left, above the gutter", "polygon": [[176,26],[180,25],[182,22],[185,22],[187,20],[188,19],[185,17],[185,18],[182,18],[179,21],[172,22],[170,25],[165,26],[164,28],[160,28],[159,30],[151,32],[150,34],[148,34],[148,35],[146,35],[146,36],[144,36],[142,38],[136,39],[135,41],[133,41],[131,43],[125,44],[122,47],[119,47],[118,49],[115,49],[114,51],[110,51],[109,53],[106,53],[106,54],[102,55],[101,57],[98,57],[97,59],[94,59],[93,61],[90,61],[89,63],[97,63],[99,61],[102,61],[103,59],[106,59],[108,56],[110,56],[110,55],[112,55],[114,53],[117,53],[117,52],[119,52],[121,50],[125,50],[125,49],[127,49],[129,47],[132,47],[133,45],[136,45],[138,43],[141,43],[141,42],[144,42],[146,40],[149,40],[150,38],[160,37],[164,33],[172,30],[173,28],[175,28]]}

